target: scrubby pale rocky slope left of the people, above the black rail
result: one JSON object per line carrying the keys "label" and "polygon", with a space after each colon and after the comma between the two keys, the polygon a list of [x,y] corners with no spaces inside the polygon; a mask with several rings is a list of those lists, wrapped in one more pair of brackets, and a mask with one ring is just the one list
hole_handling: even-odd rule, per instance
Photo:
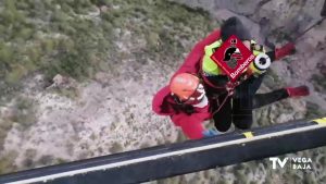
{"label": "scrubby pale rocky slope left of the people, above the black rail", "polygon": [[[165,1],[35,3],[1,4],[35,28],[24,45],[20,34],[2,40],[8,57],[1,63],[9,69],[1,78],[1,173],[181,138],[167,119],[154,115],[151,100],[196,40],[216,27],[208,13]],[[42,50],[42,41],[53,46]],[[27,47],[37,60],[26,56]],[[15,63],[12,50],[34,68]],[[15,64],[25,74],[16,75]]]}

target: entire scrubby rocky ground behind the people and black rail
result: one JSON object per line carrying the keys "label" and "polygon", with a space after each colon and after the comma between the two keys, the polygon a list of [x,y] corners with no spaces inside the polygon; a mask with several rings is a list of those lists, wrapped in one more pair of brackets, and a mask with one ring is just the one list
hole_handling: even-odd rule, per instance
{"label": "entire scrubby rocky ground behind the people and black rail", "polygon": [[[259,40],[268,35],[281,45],[286,33],[300,33],[318,17],[322,3],[78,2],[0,2],[9,25],[0,26],[1,173],[184,140],[168,119],[151,111],[151,99],[197,40],[237,15]],[[260,23],[264,17],[268,24]],[[325,115],[325,28],[326,22],[304,35],[298,52],[275,63],[261,88],[305,84],[312,95],[255,111],[254,126]],[[272,170],[266,159],[152,183],[325,183],[325,152],[296,155],[311,157],[313,171]]]}

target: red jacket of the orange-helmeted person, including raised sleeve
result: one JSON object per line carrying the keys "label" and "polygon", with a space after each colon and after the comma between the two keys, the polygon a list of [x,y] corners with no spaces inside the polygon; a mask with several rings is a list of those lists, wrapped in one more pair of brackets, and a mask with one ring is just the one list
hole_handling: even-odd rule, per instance
{"label": "red jacket of the orange-helmeted person, including raised sleeve", "polygon": [[[204,47],[213,44],[220,39],[221,32],[214,30],[203,40],[198,42],[191,52],[186,58],[184,64],[174,74],[179,73],[193,73],[198,74],[200,71],[200,61],[204,56]],[[195,112],[187,114],[184,111],[179,111],[176,102],[171,96],[168,86],[162,88],[153,98],[152,109],[160,115],[170,115],[175,125],[180,126],[183,132],[191,139],[202,138],[204,127],[202,122],[211,119],[210,107],[193,108]]]}

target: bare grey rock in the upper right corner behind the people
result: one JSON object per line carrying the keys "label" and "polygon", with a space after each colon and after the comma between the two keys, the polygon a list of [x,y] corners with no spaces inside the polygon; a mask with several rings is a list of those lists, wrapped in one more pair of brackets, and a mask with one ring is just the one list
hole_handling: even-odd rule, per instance
{"label": "bare grey rock in the upper right corner behind the people", "polygon": [[[300,36],[306,28],[315,24],[322,17],[323,0],[311,1],[227,1],[227,0],[176,0],[192,8],[202,8],[216,20],[225,20],[229,16],[238,16],[251,27],[252,35],[264,44],[268,37],[276,46],[284,45],[290,37]],[[326,111],[325,103],[325,32],[326,23],[315,26],[297,40],[298,52],[286,59],[287,62],[278,62],[273,65],[273,71],[279,75],[286,84],[305,84],[313,90],[308,101],[317,103]],[[316,85],[319,84],[319,85]],[[322,87],[322,88],[321,88]]]}

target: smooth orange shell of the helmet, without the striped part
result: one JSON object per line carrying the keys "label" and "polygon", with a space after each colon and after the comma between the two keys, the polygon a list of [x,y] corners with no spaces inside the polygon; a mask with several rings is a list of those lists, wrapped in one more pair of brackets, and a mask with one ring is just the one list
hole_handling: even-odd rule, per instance
{"label": "smooth orange shell of the helmet, without the striped part", "polygon": [[177,74],[170,82],[170,89],[181,101],[188,100],[197,90],[200,81],[197,76],[189,73]]}

